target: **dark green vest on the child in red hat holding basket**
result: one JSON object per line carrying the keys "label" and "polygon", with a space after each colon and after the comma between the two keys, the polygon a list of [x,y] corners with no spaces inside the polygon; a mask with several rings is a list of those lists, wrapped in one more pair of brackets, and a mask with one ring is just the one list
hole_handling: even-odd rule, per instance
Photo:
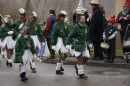
{"label": "dark green vest on the child in red hat holding basket", "polygon": [[[105,29],[105,36],[108,39],[115,31],[117,31],[117,27],[115,26],[107,26]],[[114,37],[111,40],[107,40],[109,45],[115,45],[116,44],[116,37]]]}

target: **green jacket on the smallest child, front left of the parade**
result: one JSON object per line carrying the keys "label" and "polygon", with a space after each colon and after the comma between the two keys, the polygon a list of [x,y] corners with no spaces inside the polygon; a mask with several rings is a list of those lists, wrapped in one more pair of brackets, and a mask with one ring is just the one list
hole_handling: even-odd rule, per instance
{"label": "green jacket on the smallest child, front left of the parade", "polygon": [[33,39],[31,37],[25,38],[24,36],[20,36],[15,45],[15,59],[22,59],[24,50],[27,49],[30,49],[32,54],[36,54]]}

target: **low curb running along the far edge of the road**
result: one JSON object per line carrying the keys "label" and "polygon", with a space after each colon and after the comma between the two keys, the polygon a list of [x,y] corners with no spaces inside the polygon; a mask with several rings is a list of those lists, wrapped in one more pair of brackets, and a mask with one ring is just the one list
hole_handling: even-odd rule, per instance
{"label": "low curb running along the far edge of the road", "polygon": [[[56,64],[57,59],[43,59],[43,63],[48,63],[48,64]],[[64,64],[65,65],[75,65],[77,61],[70,61],[70,60],[65,60]],[[112,67],[112,68],[125,68],[125,69],[130,69],[130,64],[129,63],[105,63],[105,62],[92,62],[88,61],[86,63],[87,66],[96,66],[96,67]]]}

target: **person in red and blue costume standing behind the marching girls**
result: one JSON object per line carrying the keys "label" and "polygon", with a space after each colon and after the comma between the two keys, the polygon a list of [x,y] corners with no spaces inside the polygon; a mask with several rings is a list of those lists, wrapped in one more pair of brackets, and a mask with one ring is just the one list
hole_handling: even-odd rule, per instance
{"label": "person in red and blue costume standing behind the marching girls", "polygon": [[45,30],[43,31],[44,36],[47,41],[48,49],[50,51],[50,57],[48,59],[55,59],[55,51],[51,48],[52,47],[51,46],[51,32],[53,30],[53,25],[55,24],[55,22],[56,22],[55,11],[52,8],[50,8],[49,17],[47,19],[47,25],[46,25]]}

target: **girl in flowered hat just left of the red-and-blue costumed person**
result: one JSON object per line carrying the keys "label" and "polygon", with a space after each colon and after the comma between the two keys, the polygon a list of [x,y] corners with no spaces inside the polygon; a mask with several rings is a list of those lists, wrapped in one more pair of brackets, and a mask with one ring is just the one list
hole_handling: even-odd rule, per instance
{"label": "girl in flowered hat just left of the red-and-blue costumed person", "polygon": [[[37,13],[32,11],[30,14],[30,19],[27,23],[27,26],[30,28],[30,36],[32,37],[34,41],[34,45],[36,48],[36,55],[38,55],[38,49],[41,49],[41,46],[45,46],[45,40],[43,38],[42,30],[37,23]],[[41,45],[42,43],[42,45]],[[37,56],[35,56],[37,59]],[[36,68],[35,68],[35,62],[31,62],[31,69],[33,73],[36,73]]]}

